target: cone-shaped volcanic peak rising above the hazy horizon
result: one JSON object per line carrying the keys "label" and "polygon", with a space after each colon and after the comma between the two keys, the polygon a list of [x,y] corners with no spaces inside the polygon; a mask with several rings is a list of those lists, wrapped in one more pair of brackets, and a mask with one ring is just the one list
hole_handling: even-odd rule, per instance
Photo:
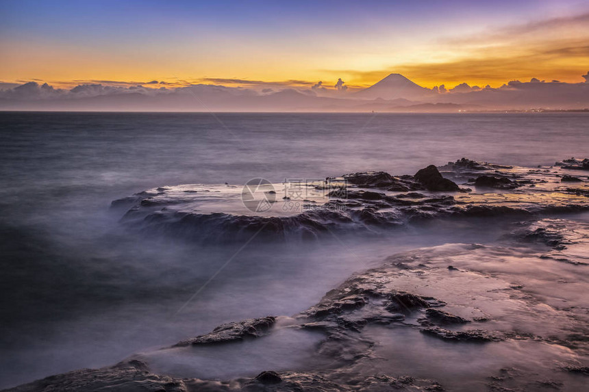
{"label": "cone-shaped volcanic peak rising above the hazy horizon", "polygon": [[362,99],[421,99],[433,94],[427,88],[410,81],[399,73],[392,73],[378,83],[356,92],[355,97]]}

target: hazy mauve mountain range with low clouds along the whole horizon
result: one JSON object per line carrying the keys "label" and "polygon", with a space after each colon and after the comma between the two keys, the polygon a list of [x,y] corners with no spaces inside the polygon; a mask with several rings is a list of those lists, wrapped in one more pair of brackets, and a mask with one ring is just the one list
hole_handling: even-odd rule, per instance
{"label": "hazy mauve mountain range with low clouds along the whole horizon", "polygon": [[[1,88],[1,86],[0,86]],[[514,109],[585,109],[589,83],[510,81],[500,88],[466,83],[446,90],[418,86],[392,73],[362,90],[331,92],[284,88],[253,90],[212,84],[181,88],[82,84],[64,90],[25,83],[0,90],[0,110],[158,112],[460,112]]]}

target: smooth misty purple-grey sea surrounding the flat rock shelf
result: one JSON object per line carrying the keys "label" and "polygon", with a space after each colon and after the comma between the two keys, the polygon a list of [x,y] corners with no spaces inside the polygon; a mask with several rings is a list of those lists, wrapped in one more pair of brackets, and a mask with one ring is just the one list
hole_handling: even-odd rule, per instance
{"label": "smooth misty purple-grey sea surrounding the flat rock shelf", "polygon": [[[495,244],[515,219],[440,220],[378,237],[259,240],[243,248],[242,242],[197,244],[129,231],[110,209],[112,200],[165,185],[241,187],[253,178],[280,183],[365,170],[414,174],[461,157],[551,165],[588,155],[588,119],[0,113],[0,387],[110,365],[224,322],[294,315],[391,254],[455,242]],[[255,376],[271,363],[296,368],[316,337],[289,333],[273,338],[281,342],[275,353],[255,354],[266,358],[262,368],[241,359],[218,370],[227,357],[245,355],[243,348],[211,354],[215,365],[204,370],[193,359],[180,370],[161,366],[183,376],[205,377],[208,369],[212,378]],[[403,350],[401,341],[393,348]]]}

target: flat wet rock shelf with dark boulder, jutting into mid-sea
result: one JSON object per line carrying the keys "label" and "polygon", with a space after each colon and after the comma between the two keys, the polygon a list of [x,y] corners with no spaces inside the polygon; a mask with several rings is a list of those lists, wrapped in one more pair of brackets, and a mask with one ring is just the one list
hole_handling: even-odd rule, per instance
{"label": "flat wet rock shelf with dark boulder, jutting into mid-sea", "polygon": [[240,186],[176,185],[114,200],[112,209],[123,213],[121,223],[131,230],[203,243],[254,234],[274,239],[314,239],[344,231],[375,234],[432,218],[589,209],[589,177],[577,170],[585,161],[575,161],[574,167],[567,160],[563,166],[523,168],[462,158],[414,175],[357,172],[310,181],[299,184],[296,194],[274,184],[285,194],[253,195],[264,203],[261,211],[248,208]]}

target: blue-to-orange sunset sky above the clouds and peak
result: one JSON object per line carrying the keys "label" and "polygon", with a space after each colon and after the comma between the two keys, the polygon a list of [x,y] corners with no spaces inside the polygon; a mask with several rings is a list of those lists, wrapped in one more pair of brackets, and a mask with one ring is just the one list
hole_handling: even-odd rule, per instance
{"label": "blue-to-orange sunset sky above the clouds and peak", "polygon": [[3,83],[497,87],[588,70],[588,1],[0,0]]}

